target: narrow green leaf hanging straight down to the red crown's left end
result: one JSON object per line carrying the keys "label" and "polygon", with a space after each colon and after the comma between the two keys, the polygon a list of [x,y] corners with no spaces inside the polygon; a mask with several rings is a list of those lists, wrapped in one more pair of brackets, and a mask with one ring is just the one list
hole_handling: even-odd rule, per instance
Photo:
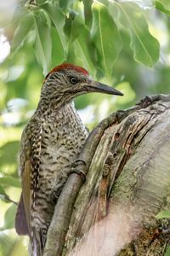
{"label": "narrow green leaf hanging straight down to the red crown's left end", "polygon": [[51,68],[52,42],[50,26],[48,26],[47,17],[42,11],[34,13],[34,26],[36,29],[35,53],[45,75]]}

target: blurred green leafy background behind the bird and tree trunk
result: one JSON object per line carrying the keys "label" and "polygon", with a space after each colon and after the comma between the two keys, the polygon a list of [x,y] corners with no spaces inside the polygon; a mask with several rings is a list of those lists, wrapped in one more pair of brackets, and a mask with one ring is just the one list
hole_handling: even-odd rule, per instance
{"label": "blurred green leafy background behind the bird and tree trunk", "polygon": [[124,93],[76,99],[90,129],[145,95],[169,93],[168,15],[168,0],[0,3],[0,256],[28,254],[27,239],[14,231],[13,201],[20,198],[17,154],[44,76],[68,61]]}

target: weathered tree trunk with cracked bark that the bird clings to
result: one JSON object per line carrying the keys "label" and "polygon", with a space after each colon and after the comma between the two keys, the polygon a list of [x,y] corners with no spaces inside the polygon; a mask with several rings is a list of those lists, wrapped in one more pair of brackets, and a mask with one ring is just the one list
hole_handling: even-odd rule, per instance
{"label": "weathered tree trunk with cracked bark that the bird clings to", "polygon": [[59,195],[44,256],[153,255],[170,245],[170,96],[112,113],[88,137]]}

